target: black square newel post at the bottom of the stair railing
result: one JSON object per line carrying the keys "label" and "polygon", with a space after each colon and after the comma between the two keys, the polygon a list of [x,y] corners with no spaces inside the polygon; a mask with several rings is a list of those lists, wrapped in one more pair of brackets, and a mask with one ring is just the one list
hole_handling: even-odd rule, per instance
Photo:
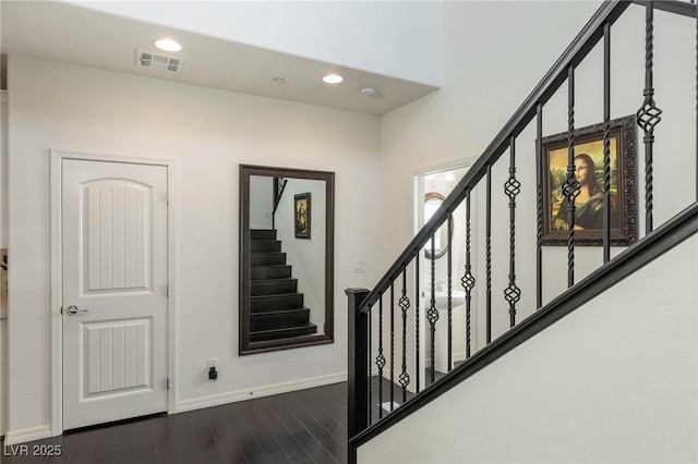
{"label": "black square newel post at the bottom of the stair railing", "polygon": [[369,314],[357,310],[369,291],[347,289],[345,293],[349,315],[348,435],[351,439],[369,428]]}

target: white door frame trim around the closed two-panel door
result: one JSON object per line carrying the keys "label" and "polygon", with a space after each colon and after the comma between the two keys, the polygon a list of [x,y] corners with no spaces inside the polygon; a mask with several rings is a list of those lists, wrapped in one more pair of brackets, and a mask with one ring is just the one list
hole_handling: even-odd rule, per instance
{"label": "white door frame trim around the closed two-panel door", "polygon": [[[174,161],[169,159],[127,158],[109,155],[77,154],[51,149],[51,435],[63,432],[63,330],[61,305],[63,301],[63,254],[62,254],[62,206],[61,187],[64,159],[83,161],[122,162],[130,164],[151,164],[167,168],[168,205],[174,194]],[[167,412],[176,412],[176,359],[174,350],[174,208],[167,210]]]}

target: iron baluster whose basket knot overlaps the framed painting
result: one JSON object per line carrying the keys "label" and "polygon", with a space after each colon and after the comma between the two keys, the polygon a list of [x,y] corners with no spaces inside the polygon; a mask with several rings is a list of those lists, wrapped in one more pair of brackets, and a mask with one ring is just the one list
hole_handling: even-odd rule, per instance
{"label": "iron baluster whose basket knot overlaps the framed painting", "polygon": [[567,178],[562,193],[567,198],[567,286],[571,286],[575,284],[575,199],[581,188],[575,174],[575,69],[571,65],[567,69]]}

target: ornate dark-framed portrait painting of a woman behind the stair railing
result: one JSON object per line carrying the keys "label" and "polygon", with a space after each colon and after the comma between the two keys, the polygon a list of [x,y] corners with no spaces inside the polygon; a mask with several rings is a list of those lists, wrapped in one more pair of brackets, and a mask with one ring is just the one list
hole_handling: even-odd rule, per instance
{"label": "ornate dark-framed portrait painting of a woman behind the stair railing", "polygon": [[[625,246],[637,240],[635,117],[611,121],[610,192],[611,245]],[[603,124],[575,131],[575,244],[603,244]],[[543,245],[567,245],[569,200],[563,194],[567,178],[567,133],[544,137],[543,146]]]}

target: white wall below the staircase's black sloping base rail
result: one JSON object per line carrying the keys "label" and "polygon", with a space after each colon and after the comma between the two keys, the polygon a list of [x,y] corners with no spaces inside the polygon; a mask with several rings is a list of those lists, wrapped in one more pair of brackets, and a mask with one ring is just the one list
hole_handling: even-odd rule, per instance
{"label": "white wall below the staircase's black sloping base rail", "polygon": [[694,236],[359,448],[358,462],[698,461],[697,289]]}

